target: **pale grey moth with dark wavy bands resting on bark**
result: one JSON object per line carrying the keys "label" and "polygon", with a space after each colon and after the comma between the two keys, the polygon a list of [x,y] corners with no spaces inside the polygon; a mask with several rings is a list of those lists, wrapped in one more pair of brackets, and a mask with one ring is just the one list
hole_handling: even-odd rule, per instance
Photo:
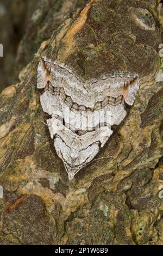
{"label": "pale grey moth with dark wavy bands resting on bark", "polygon": [[125,105],[133,105],[139,84],[138,75],[123,72],[84,81],[57,60],[40,60],[40,101],[51,116],[48,129],[69,180],[94,159],[112,135],[111,126],[126,117]]}

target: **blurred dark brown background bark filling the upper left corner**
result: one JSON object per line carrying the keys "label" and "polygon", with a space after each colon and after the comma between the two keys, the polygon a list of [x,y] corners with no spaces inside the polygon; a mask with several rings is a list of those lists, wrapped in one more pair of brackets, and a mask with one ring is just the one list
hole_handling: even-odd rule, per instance
{"label": "blurred dark brown background bark filling the upper left corner", "polygon": [[[64,15],[82,7],[85,0],[1,0],[0,91],[18,82],[18,73],[27,65],[43,40],[51,37]],[[26,33],[25,33],[26,32]]]}

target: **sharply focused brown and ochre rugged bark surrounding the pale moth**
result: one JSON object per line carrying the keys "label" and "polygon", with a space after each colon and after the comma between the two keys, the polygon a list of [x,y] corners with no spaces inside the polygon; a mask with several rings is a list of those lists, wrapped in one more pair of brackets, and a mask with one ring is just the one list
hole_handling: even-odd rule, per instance
{"label": "sharply focused brown and ochre rugged bark surrounding the pale moth", "polygon": [[[55,9],[54,2],[49,1]],[[71,1],[72,8],[84,2]],[[31,23],[35,39],[29,39],[27,31],[19,47],[21,59],[26,45],[31,45],[23,63],[43,41],[41,29],[49,31],[47,39],[60,24],[59,18],[51,27],[52,14],[40,18],[42,6]],[[130,6],[151,11],[155,31],[142,31],[129,22]],[[163,244],[163,82],[156,82],[162,10],[157,7],[154,0],[91,0],[82,11],[65,17],[22,70],[20,82],[3,90],[1,245]],[[67,63],[86,78],[117,67],[135,71],[141,78],[127,118],[115,127],[97,160],[72,182],[55,153],[36,89],[41,56]]]}

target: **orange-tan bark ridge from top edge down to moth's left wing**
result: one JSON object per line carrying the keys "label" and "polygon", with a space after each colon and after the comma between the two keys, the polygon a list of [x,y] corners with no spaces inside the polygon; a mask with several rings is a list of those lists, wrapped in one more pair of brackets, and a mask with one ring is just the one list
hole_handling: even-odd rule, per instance
{"label": "orange-tan bark ridge from top edge down to moth's left wing", "polygon": [[74,36],[77,34],[77,32],[80,31],[80,29],[84,27],[87,20],[87,16],[89,14],[89,10],[93,5],[95,5],[98,2],[99,0],[91,0],[89,3],[87,3],[86,7],[81,11],[78,19],[74,22],[72,27],[66,33],[64,39],[62,40],[62,42],[64,42],[65,44],[65,47],[61,49],[59,56],[59,60],[61,62],[64,62],[65,58],[67,58],[67,56],[69,56],[71,52],[74,51]]}

